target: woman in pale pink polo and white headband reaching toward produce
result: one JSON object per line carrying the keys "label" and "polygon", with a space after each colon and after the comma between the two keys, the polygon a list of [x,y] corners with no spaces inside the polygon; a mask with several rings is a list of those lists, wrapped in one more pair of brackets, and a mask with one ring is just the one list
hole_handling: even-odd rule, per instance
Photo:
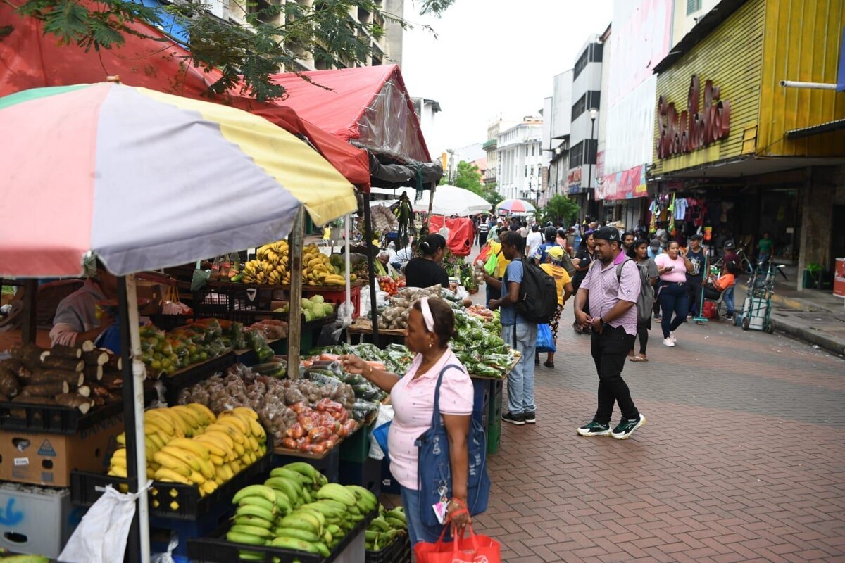
{"label": "woman in pale pink polo and white headband reaching toward produce", "polygon": [[461,529],[471,522],[466,510],[466,482],[469,478],[466,440],[472,416],[472,380],[466,374],[455,354],[449,348],[449,339],[455,332],[455,315],[444,300],[423,298],[413,304],[405,329],[405,344],[416,353],[405,376],[373,369],[355,355],[341,356],[343,369],[359,373],[384,391],[390,392],[394,419],[388,435],[390,473],[401,485],[402,505],[408,521],[411,544],[436,542],[442,527],[429,527],[420,522],[420,510],[433,510],[419,506],[417,490],[418,448],[414,441],[431,426],[434,411],[434,388],[440,372],[440,413],[449,433],[450,465],[452,469],[452,498],[448,515],[453,528]]}

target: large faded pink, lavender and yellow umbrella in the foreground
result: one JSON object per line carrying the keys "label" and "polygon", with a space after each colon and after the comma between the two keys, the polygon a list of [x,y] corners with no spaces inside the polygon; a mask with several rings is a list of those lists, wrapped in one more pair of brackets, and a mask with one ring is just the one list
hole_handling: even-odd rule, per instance
{"label": "large faded pink, lavender and yellow umbrella in the foreground", "polygon": [[116,83],[0,98],[0,275],[114,274],[324,225],[354,187],[299,138],[246,111]]}

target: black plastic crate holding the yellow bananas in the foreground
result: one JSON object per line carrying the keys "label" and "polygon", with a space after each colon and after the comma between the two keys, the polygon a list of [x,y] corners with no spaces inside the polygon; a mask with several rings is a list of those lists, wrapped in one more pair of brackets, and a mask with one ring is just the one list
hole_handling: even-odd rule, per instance
{"label": "black plastic crate holding the yellow bananas in the foreground", "polygon": [[[238,490],[247,485],[254,485],[263,481],[265,476],[270,473],[272,452],[272,440],[268,435],[267,453],[248,468],[242,469],[232,479],[220,485],[210,495],[200,496],[199,488],[195,485],[153,481],[149,492],[150,514],[177,520],[197,520],[205,514],[218,510],[220,503],[231,504],[232,497]],[[124,492],[128,490],[128,484],[128,479],[120,477],[73,471],[70,474],[70,500],[75,506],[91,506],[106,490],[106,485],[112,485],[117,490],[121,490],[120,485],[123,485],[121,492]],[[175,491],[175,495],[172,491]],[[153,507],[155,500],[159,501],[157,507]],[[177,502],[176,509],[170,506],[172,501]]]}

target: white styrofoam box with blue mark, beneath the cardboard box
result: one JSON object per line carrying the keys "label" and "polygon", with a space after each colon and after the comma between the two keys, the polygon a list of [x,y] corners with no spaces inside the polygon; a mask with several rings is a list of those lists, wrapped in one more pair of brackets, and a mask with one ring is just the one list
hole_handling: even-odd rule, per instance
{"label": "white styrofoam box with blue mark, beneath the cardboard box", "polygon": [[85,508],[70,503],[69,489],[0,485],[0,547],[56,559]]}

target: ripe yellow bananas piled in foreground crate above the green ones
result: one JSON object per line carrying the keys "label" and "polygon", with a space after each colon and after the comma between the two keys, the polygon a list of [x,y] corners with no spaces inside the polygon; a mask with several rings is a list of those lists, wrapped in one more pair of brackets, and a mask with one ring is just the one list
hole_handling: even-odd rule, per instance
{"label": "ripe yellow bananas piled in foreground crate above the green ones", "polygon": [[[199,403],[144,414],[147,476],[156,481],[198,485],[208,495],[267,451],[266,434],[253,409],[238,407],[220,417]],[[108,474],[126,476],[124,447],[112,456]],[[155,505],[155,502],[154,502]]]}

